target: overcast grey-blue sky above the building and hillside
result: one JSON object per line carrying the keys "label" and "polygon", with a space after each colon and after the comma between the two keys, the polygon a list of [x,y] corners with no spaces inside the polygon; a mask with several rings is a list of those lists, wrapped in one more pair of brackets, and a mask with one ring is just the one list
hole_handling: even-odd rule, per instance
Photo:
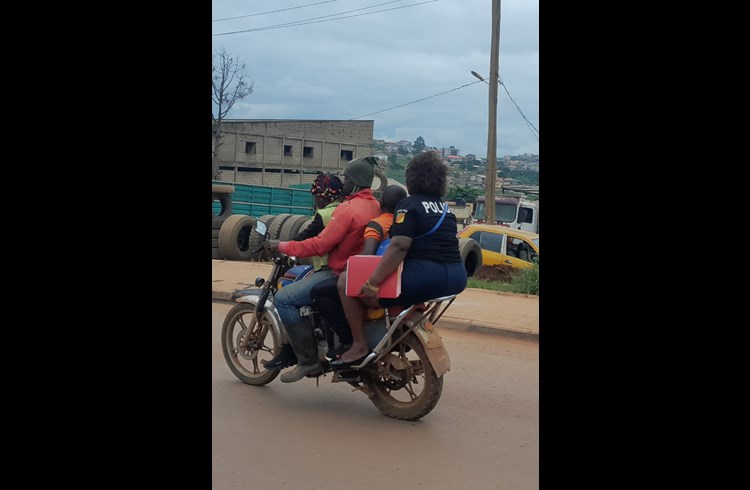
{"label": "overcast grey-blue sky above the building and hillside", "polygon": [[[471,71],[489,79],[491,7],[492,0],[212,0],[213,52],[239,56],[255,83],[227,117],[373,120],[375,139],[422,136],[427,146],[486,157],[489,87]],[[502,0],[500,10],[500,79],[539,129],[539,1]],[[349,18],[330,20],[342,16]],[[303,21],[310,23],[269,29]],[[251,29],[260,30],[216,35]],[[497,114],[498,157],[539,154],[534,129],[502,85]]]}

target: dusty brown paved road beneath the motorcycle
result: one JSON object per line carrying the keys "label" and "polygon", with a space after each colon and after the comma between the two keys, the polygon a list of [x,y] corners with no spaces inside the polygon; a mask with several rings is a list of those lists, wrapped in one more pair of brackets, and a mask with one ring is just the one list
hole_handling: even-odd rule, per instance
{"label": "dusty brown paved road beneath the motorcycle", "polygon": [[405,422],[330,375],[241,383],[221,352],[231,306],[212,306],[213,490],[539,488],[538,342],[440,330],[442,397]]}

